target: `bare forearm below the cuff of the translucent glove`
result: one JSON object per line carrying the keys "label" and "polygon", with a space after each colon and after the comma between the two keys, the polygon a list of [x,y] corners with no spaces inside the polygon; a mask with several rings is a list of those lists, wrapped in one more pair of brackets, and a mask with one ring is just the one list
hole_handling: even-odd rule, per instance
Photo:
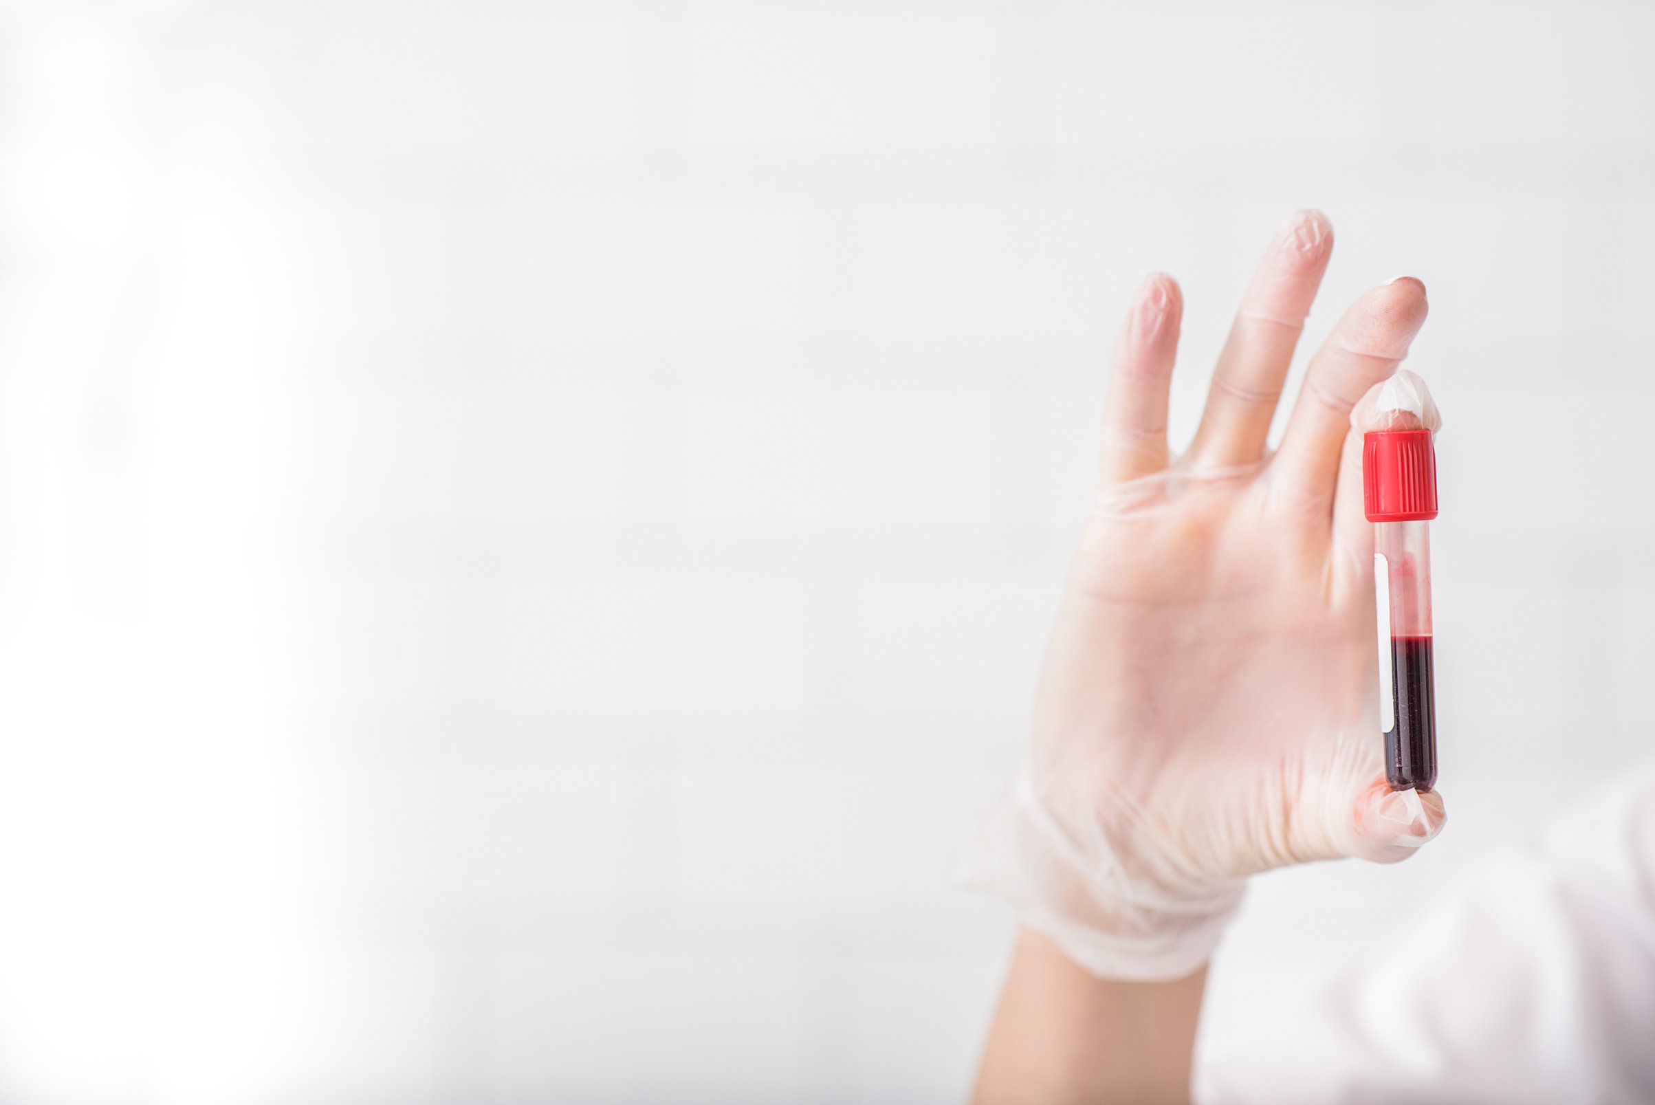
{"label": "bare forearm below the cuff of the translucent glove", "polygon": [[1188,1102],[1205,988],[1206,968],[1175,983],[1094,978],[1024,928],[973,1103]]}

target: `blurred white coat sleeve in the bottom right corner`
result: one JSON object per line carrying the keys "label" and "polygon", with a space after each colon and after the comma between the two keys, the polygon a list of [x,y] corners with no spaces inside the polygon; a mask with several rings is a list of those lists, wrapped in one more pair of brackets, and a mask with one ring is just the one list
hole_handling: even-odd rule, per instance
{"label": "blurred white coat sleeve in the bottom right corner", "polygon": [[1195,1100],[1655,1102],[1655,761],[1205,1055]]}

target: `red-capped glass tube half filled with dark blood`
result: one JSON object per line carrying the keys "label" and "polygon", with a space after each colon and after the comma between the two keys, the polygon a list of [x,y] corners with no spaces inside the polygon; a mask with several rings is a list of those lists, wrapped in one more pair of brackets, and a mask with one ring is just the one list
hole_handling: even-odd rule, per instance
{"label": "red-capped glass tube half filled with dark blood", "polygon": [[[1408,422],[1400,419],[1400,425]],[[1374,523],[1385,779],[1394,791],[1430,791],[1437,786],[1430,539],[1437,450],[1428,428],[1375,430],[1362,445],[1364,506]]]}

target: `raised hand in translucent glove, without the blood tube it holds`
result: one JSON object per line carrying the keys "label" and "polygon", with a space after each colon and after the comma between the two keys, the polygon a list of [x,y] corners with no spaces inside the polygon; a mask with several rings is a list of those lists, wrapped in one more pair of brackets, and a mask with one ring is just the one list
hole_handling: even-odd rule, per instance
{"label": "raised hand in translucent glove, without the blood tube it holds", "polygon": [[1379,425],[1379,384],[1425,321],[1420,281],[1346,311],[1264,455],[1331,250],[1317,212],[1276,237],[1178,458],[1165,435],[1183,313],[1170,276],[1144,283],[1115,344],[1101,486],[1028,761],[963,872],[1104,978],[1195,971],[1248,875],[1398,860],[1443,825],[1437,792],[1385,784],[1367,427],[1350,425],[1364,395],[1357,417]]}

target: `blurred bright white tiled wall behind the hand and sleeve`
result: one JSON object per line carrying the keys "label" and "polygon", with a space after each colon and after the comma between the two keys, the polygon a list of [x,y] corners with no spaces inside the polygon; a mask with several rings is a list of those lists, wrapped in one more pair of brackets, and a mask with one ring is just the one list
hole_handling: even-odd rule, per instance
{"label": "blurred bright white tiled wall behind the hand and sleeve", "polygon": [[[948,1102],[1125,296],[1423,278],[1451,822],[1256,880],[1211,1047],[1635,763],[1643,3],[0,15],[0,1098]],[[1302,359],[1301,359],[1302,362]]]}

